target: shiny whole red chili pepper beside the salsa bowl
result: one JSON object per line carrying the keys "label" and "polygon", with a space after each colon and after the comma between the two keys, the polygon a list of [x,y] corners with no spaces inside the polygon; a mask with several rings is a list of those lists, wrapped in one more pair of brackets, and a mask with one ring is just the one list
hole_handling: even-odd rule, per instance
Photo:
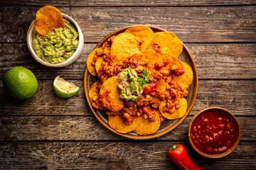
{"label": "shiny whole red chili pepper beside the salsa bowl", "polygon": [[204,170],[192,162],[191,158],[188,156],[186,148],[183,145],[174,145],[168,150],[168,155],[170,159],[181,169]]}

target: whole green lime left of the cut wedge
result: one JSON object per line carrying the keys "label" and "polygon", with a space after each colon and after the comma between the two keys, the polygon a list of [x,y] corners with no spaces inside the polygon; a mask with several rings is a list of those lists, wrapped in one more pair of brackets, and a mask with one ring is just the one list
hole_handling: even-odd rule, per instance
{"label": "whole green lime left of the cut wedge", "polygon": [[3,84],[11,96],[19,99],[31,98],[38,89],[35,75],[25,67],[14,67],[6,72]]}

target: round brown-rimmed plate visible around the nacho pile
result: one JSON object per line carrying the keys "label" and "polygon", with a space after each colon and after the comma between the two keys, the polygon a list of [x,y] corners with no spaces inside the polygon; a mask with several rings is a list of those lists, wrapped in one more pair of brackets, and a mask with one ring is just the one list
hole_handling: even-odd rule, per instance
{"label": "round brown-rimmed plate visible around the nacho pile", "polygon": [[[102,47],[103,43],[107,41],[108,38],[110,38],[112,35],[117,35],[119,33],[123,33],[128,28],[132,28],[133,26],[129,26],[126,28],[121,28],[119,30],[114,31],[110,35],[107,35],[103,40],[101,40],[98,45],[95,48]],[[164,30],[162,28],[158,28],[155,26],[149,26],[154,32],[166,32],[167,30]],[[190,52],[188,52],[188,49],[183,44],[183,52],[181,53],[180,57],[178,57],[178,60],[181,60],[181,62],[186,62],[192,69],[193,69],[193,82],[191,86],[188,88],[188,96],[186,97],[186,100],[188,101],[188,110],[185,115],[183,115],[182,118],[174,119],[174,120],[164,120],[164,122],[161,123],[161,126],[159,130],[157,130],[154,134],[151,135],[137,135],[135,132],[129,132],[126,134],[122,134],[117,132],[116,130],[110,128],[108,125],[108,116],[105,113],[106,111],[101,111],[99,109],[95,109],[92,107],[92,103],[89,98],[89,91],[98,78],[92,76],[90,73],[88,73],[88,70],[85,69],[85,77],[84,77],[84,85],[85,85],[85,96],[87,99],[87,102],[89,103],[89,106],[92,110],[92,113],[94,113],[95,117],[104,125],[107,129],[111,130],[112,132],[116,133],[117,135],[120,135],[122,137],[127,137],[129,139],[133,140],[149,140],[155,137],[160,137],[161,135],[166,134],[167,132],[170,132],[174,128],[176,128],[188,115],[188,113],[191,111],[193,104],[196,101],[196,95],[198,91],[198,73],[196,69],[196,64],[193,61],[193,57]]]}

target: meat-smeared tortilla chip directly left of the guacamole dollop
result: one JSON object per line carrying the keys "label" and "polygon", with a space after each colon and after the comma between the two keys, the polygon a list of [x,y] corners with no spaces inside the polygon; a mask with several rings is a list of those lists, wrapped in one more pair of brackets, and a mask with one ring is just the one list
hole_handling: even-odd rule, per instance
{"label": "meat-smeared tortilla chip directly left of the guacamole dollop", "polygon": [[103,106],[110,111],[120,111],[122,108],[124,108],[124,101],[122,98],[120,98],[119,90],[117,87],[118,82],[118,76],[110,77],[104,81],[100,89],[100,94],[106,93],[106,91],[110,91],[110,93],[107,94],[107,96],[110,98],[110,101],[102,101]]}

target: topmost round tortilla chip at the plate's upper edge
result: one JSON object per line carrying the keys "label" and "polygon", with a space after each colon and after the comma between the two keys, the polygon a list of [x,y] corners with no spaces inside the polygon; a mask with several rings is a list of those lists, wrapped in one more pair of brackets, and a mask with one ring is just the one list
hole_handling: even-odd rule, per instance
{"label": "topmost round tortilla chip at the plate's upper edge", "polygon": [[130,33],[138,40],[142,40],[140,50],[148,49],[151,44],[151,40],[154,38],[154,32],[148,26],[134,26],[125,30],[124,33]]}

